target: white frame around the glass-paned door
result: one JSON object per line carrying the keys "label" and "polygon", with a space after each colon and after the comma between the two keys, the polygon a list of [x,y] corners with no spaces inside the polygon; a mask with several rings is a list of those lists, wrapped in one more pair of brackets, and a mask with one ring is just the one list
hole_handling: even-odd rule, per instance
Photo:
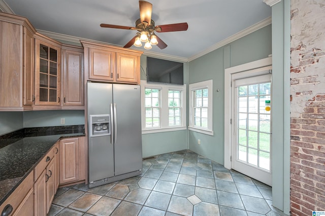
{"label": "white frame around the glass-paned door", "polygon": [[[252,61],[246,64],[241,64],[234,67],[224,69],[224,167],[227,169],[232,168],[231,155],[232,155],[232,126],[230,124],[232,119],[232,75],[251,70],[246,73],[245,77],[249,77],[249,74],[258,75],[253,69],[272,65],[272,57],[264,58],[261,60]],[[243,77],[243,78],[245,78]]]}

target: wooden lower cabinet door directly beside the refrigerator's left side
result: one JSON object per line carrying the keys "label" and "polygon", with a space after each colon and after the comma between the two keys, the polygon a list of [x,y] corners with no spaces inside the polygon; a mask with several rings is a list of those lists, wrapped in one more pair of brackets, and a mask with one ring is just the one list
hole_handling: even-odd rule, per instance
{"label": "wooden lower cabinet door directly beside the refrigerator's left side", "polygon": [[60,185],[85,180],[85,137],[63,138],[59,141]]}

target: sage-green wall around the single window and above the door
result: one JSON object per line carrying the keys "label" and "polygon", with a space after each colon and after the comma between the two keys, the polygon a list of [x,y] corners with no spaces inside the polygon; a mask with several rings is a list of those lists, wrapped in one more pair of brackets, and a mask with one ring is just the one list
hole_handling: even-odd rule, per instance
{"label": "sage-green wall around the single window and above the door", "polygon": [[188,63],[188,84],[213,80],[214,135],[189,131],[190,150],[223,164],[224,69],[268,57],[272,53],[271,35],[268,25]]}

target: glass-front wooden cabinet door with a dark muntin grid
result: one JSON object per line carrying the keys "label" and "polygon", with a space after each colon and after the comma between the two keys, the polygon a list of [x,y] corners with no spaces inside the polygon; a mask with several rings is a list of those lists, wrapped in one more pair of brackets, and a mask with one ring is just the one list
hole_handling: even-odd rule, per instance
{"label": "glass-front wooden cabinet door with a dark muntin grid", "polygon": [[60,105],[61,48],[35,40],[35,105]]}

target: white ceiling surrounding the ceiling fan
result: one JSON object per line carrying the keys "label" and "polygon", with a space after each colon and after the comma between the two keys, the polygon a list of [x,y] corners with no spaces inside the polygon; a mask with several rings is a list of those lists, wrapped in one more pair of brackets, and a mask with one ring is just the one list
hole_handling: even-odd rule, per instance
{"label": "white ceiling surrounding the ceiling fan", "polygon": [[[39,30],[124,46],[137,31],[102,28],[101,23],[135,26],[138,0],[0,0]],[[190,58],[271,16],[263,0],[148,0],[156,25],[187,22],[187,31],[157,33],[168,47],[150,50]],[[132,46],[130,49],[136,49]],[[138,49],[138,48],[137,48]],[[144,51],[144,48],[140,48]]]}

